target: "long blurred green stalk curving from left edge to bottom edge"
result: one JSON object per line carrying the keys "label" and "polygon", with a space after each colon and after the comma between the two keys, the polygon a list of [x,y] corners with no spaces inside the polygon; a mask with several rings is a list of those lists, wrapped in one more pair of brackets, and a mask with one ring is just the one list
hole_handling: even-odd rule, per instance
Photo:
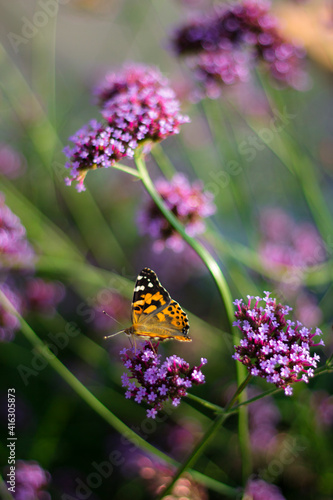
{"label": "long blurred green stalk curving from left edge to bottom edge", "polygon": [[[141,436],[136,434],[132,429],[130,429],[126,424],[124,424],[119,418],[117,418],[111,410],[109,410],[103,403],[99,401],[73,374],[66,368],[65,365],[54,355],[54,353],[47,347],[46,344],[38,337],[38,335],[33,331],[30,325],[22,318],[19,312],[14,308],[14,306],[9,302],[5,294],[0,290],[0,304],[4,307],[6,311],[10,314],[16,316],[21,323],[21,331],[26,337],[28,342],[35,348],[35,350],[41,354],[49,363],[49,365],[58,373],[58,375],[73,389],[73,391],[85,401],[92,410],[94,410],[100,417],[102,417],[108,424],[110,424],[117,432],[122,434],[135,446],[141,448],[142,450],[151,453],[161,460],[165,461],[173,467],[179,467],[179,463],[173,460],[171,457],[155,448],[153,445],[148,443]],[[189,471],[194,479],[207,484],[210,488],[216,491],[227,494],[228,496],[236,496],[236,490],[228,485],[225,485],[219,481],[215,481],[212,478],[200,474],[196,471]]]}

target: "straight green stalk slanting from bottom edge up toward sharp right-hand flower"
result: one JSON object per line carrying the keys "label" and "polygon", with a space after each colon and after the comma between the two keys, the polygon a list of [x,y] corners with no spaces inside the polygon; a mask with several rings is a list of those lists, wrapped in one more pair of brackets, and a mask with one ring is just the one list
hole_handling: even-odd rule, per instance
{"label": "straight green stalk slanting from bottom edge up toward sharp right-hand flower", "polygon": [[232,398],[230,399],[229,403],[225,407],[224,412],[221,415],[219,415],[218,417],[216,417],[215,421],[209,427],[209,429],[207,430],[206,434],[201,439],[201,441],[197,444],[197,446],[192,451],[192,453],[190,454],[190,456],[188,457],[188,459],[179,467],[179,469],[177,470],[177,473],[173,476],[172,481],[168,484],[168,486],[163,491],[162,495],[159,497],[158,500],[162,500],[162,498],[164,498],[166,495],[168,495],[172,491],[172,488],[174,487],[176,481],[186,471],[186,469],[192,467],[195,464],[195,462],[199,459],[199,457],[202,455],[202,453],[204,452],[204,450],[207,447],[207,445],[210,443],[210,441],[212,440],[212,438],[216,435],[216,433],[219,430],[219,428],[221,427],[221,425],[223,425],[223,423],[225,422],[225,420],[229,417],[228,410],[230,408],[232,408],[232,406],[234,405],[235,401],[237,401],[237,399],[239,398],[240,394],[243,392],[243,390],[245,389],[245,387],[249,383],[251,377],[252,376],[249,374],[246,377],[246,379],[243,381],[243,383],[238,387],[238,389],[236,390],[235,394],[232,396]]}

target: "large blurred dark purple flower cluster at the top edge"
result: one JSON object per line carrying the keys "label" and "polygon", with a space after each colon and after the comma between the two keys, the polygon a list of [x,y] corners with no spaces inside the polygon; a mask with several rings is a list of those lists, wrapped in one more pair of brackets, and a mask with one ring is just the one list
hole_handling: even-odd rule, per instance
{"label": "large blurred dark purple flower cluster at the top edge", "polygon": [[174,51],[187,58],[210,97],[218,95],[221,83],[247,80],[251,64],[259,61],[275,80],[301,85],[304,51],[279,34],[269,8],[266,0],[221,5],[175,32]]}

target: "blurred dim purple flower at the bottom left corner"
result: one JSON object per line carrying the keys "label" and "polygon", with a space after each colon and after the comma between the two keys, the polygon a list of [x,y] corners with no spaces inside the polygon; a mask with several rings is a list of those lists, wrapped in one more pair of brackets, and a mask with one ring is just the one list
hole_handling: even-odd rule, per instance
{"label": "blurred dim purple flower at the bottom left corner", "polygon": [[50,500],[49,493],[44,491],[50,474],[37,462],[18,460],[15,479],[15,500]]}

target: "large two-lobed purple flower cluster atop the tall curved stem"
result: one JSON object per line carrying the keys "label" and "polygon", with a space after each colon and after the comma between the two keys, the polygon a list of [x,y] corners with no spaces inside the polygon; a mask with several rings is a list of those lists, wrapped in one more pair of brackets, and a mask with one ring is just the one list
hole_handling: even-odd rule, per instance
{"label": "large two-lobed purple flower cluster atop the tall curved stem", "polygon": [[169,82],[159,70],[144,65],[129,65],[119,73],[109,73],[96,88],[95,95],[106,123],[95,120],[80,129],[70,140],[70,185],[77,181],[83,191],[88,170],[111,167],[122,158],[132,158],[138,146],[166,139],[179,133],[189,118],[179,112],[179,103]]}

